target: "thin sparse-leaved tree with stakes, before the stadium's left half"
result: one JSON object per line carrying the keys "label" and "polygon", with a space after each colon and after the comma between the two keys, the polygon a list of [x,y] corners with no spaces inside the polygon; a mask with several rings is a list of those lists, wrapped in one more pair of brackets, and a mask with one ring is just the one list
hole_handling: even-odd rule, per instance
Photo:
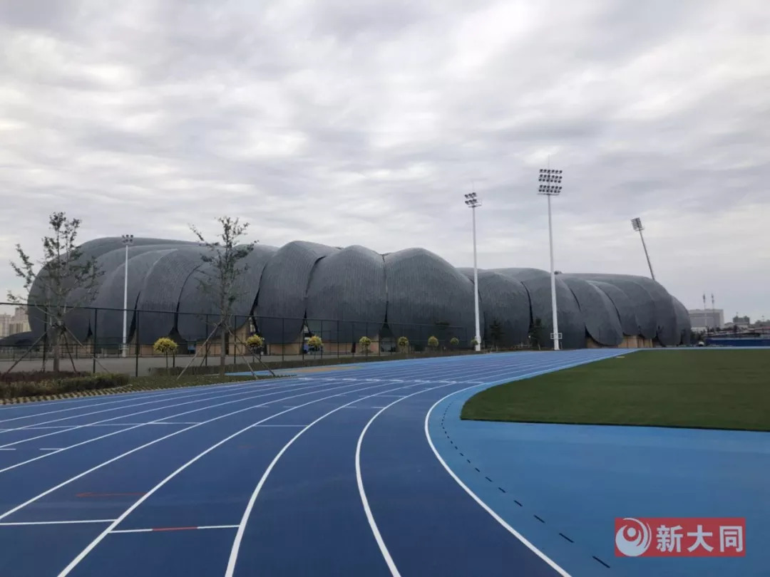
{"label": "thin sparse-leaved tree with stakes, before the stadium's left half", "polygon": [[209,252],[201,255],[201,260],[208,265],[203,267],[203,278],[200,279],[200,287],[216,302],[219,309],[219,322],[216,329],[219,331],[219,375],[225,374],[225,362],[227,355],[227,335],[232,331],[230,318],[233,316],[233,305],[247,287],[239,283],[239,278],[248,270],[248,265],[243,262],[253,250],[254,242],[239,244],[239,240],[246,235],[249,223],[239,222],[238,218],[220,216],[216,219],[222,226],[222,231],[216,237],[216,241],[208,242],[197,228],[190,225],[192,232],[198,240],[209,248]]}

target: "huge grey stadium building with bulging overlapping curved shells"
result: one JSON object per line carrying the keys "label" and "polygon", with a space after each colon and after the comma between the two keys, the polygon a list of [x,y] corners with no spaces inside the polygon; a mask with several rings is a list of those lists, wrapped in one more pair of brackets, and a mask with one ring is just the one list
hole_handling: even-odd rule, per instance
{"label": "huge grey stadium building with bulging overlapping curved shells", "polygon": [[[81,342],[122,342],[125,247],[121,238],[85,242],[82,252],[103,272],[90,309],[72,311],[69,329]],[[135,238],[129,246],[129,342],[149,347],[162,336],[205,341],[216,325],[216,297],[201,281],[213,265],[197,242]],[[367,335],[373,351],[390,351],[400,336],[412,343],[435,335],[447,345],[474,336],[472,268],[455,268],[422,248],[380,255],[363,246],[345,248],[290,242],[256,245],[244,259],[234,304],[237,334],[262,335],[271,354],[300,352],[310,334],[327,352],[350,352]],[[542,342],[551,329],[551,281],[535,268],[495,268],[478,275],[484,342],[526,345],[541,320]],[[33,285],[30,301],[39,294]],[[557,309],[562,346],[651,347],[686,344],[685,307],[649,278],[631,275],[559,274]],[[30,308],[32,338],[42,335],[42,314]],[[494,327],[494,329],[493,329]],[[29,335],[28,335],[29,336]]]}

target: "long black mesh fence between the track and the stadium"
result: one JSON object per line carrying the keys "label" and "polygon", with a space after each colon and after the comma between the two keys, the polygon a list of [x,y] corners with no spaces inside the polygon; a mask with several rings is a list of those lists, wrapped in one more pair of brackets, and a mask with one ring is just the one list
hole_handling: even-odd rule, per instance
{"label": "long black mesh fence between the track and the stadium", "polygon": [[[0,362],[18,359],[43,361],[52,358],[52,324],[44,306],[16,306],[0,303],[10,309],[15,322],[8,322],[16,330],[0,337]],[[2,309],[0,309],[2,312]],[[28,325],[24,325],[24,320]],[[437,321],[434,324],[392,324],[348,319],[296,319],[255,315],[233,315],[229,322],[220,322],[214,312],[179,312],[159,310],[124,310],[84,307],[70,309],[65,315],[65,332],[60,342],[60,359],[69,364],[92,359],[96,372],[99,359],[134,359],[139,375],[139,359],[162,357],[169,366],[187,365],[189,357],[196,356],[194,365],[219,364],[224,332],[224,351],[228,363],[242,363],[243,357],[270,361],[297,359],[329,359],[336,357],[372,357],[403,352],[441,352],[471,349],[473,331],[466,327]],[[223,326],[228,329],[223,331]],[[0,325],[2,328],[2,325]],[[6,329],[5,332],[9,332]],[[250,335],[260,335],[264,344],[255,350],[246,345]],[[310,338],[320,337],[322,345],[313,347]],[[162,337],[176,342],[176,352],[164,355],[155,352],[153,344]],[[367,337],[371,344],[363,348],[360,339]],[[408,339],[407,349],[399,346],[399,339]],[[431,338],[434,338],[435,341]],[[186,360],[183,360],[186,359]],[[82,365],[82,362],[79,362]]]}

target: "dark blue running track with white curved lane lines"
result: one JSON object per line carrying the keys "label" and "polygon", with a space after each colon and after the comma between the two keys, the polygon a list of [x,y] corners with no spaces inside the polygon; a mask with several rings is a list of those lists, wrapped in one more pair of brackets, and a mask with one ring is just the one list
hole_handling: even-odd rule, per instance
{"label": "dark blue running track with white curved lane lines", "polygon": [[454,479],[427,415],[454,392],[624,352],[2,407],[0,575],[567,575]]}

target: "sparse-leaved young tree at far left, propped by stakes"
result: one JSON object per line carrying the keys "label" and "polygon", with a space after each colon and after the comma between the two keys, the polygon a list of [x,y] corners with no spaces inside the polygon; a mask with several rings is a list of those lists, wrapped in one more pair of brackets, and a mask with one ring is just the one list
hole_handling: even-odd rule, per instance
{"label": "sparse-leaved young tree at far left, propped by stakes", "polygon": [[37,263],[39,270],[35,272],[35,262],[21,245],[16,245],[19,262],[11,263],[15,275],[24,282],[26,294],[15,295],[9,291],[8,300],[32,306],[45,316],[45,332],[30,350],[49,335],[53,341],[54,372],[59,372],[62,342],[66,342],[68,332],[65,317],[71,309],[93,301],[102,275],[96,259],[83,258],[76,244],[80,223],[78,218],[67,218],[64,212],[52,213],[49,216],[51,235],[42,238],[43,258]]}

